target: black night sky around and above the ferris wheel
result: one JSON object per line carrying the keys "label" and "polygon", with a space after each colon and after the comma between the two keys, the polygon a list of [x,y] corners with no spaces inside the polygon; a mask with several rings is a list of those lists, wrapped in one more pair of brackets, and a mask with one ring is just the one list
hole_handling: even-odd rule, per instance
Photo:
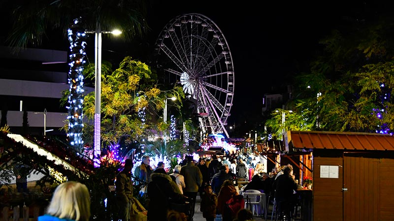
{"label": "black night sky around and above the ferris wheel", "polygon": [[[379,1],[354,4],[342,1],[152,2],[147,17],[151,31],[143,39],[128,44],[103,36],[103,60],[119,63],[130,55],[148,63],[148,55],[154,49],[159,33],[172,18],[187,13],[205,15],[223,32],[233,59],[235,84],[229,125],[239,124],[244,118],[248,119],[246,116],[261,114],[263,94],[270,93],[273,86],[287,85],[297,73],[307,71],[311,58],[322,49],[319,39],[332,29],[342,26],[346,20],[369,19],[393,8],[393,3]],[[2,14],[2,18],[5,24],[10,23],[7,21],[9,17]],[[61,32],[53,33],[62,35]],[[48,37],[50,43],[45,43],[45,47],[68,49],[66,36]],[[88,60],[94,62],[94,36],[89,38]],[[249,120],[254,119],[249,117]]]}

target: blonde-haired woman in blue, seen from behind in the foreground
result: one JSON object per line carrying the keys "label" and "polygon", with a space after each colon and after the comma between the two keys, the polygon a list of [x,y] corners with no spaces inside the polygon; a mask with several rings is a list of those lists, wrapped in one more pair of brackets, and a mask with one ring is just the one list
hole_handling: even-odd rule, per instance
{"label": "blonde-haired woman in blue, seen from behind in the foreground", "polygon": [[90,195],[88,188],[78,182],[68,181],[53,193],[46,214],[38,221],[89,221]]}

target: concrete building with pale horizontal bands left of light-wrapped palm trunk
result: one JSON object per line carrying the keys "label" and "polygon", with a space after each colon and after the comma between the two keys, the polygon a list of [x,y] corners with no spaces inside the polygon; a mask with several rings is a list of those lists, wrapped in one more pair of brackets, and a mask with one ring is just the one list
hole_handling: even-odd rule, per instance
{"label": "concrete building with pale horizontal bands left of light-wrapped palm trunk", "polygon": [[[0,116],[6,110],[11,132],[22,132],[26,110],[29,133],[43,134],[45,124],[46,130],[53,129],[47,134],[65,134],[59,128],[67,115],[65,105],[60,105],[62,91],[69,89],[67,58],[66,51],[28,48],[14,54],[0,46]],[[94,91],[84,89],[86,94]]]}

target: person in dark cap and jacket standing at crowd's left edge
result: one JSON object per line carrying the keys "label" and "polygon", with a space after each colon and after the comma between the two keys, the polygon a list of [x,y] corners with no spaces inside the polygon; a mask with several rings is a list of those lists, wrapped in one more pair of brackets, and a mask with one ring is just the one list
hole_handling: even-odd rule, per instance
{"label": "person in dark cap and jacket standing at crowd's left edge", "polygon": [[131,182],[132,166],[132,160],[126,159],[124,169],[116,176],[116,198],[119,205],[119,218],[122,221],[130,221],[133,190]]}

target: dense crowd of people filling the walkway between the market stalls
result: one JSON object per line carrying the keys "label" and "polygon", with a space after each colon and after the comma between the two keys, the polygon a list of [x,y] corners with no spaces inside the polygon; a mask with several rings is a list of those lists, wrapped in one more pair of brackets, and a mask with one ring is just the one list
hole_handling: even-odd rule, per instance
{"label": "dense crowd of people filling the walkway between the market stalls", "polygon": [[[143,156],[133,177],[146,184],[142,185],[140,194],[148,197],[148,221],[163,221],[163,217],[173,213],[173,209],[187,215],[188,220],[192,221],[197,194],[201,198],[200,210],[207,221],[214,221],[217,215],[223,221],[242,220],[242,216],[237,218],[237,212],[244,208],[244,204],[239,206],[236,203],[244,202],[235,200],[229,208],[228,201],[238,195],[237,180],[250,178],[253,184],[253,174],[262,172],[263,168],[258,169],[258,165],[262,163],[259,160],[253,161],[254,159],[234,153],[223,157],[212,155],[211,158],[199,158],[196,162],[193,156],[186,156],[179,165],[170,168],[171,172],[166,172],[163,162],[159,162],[153,169],[149,156]],[[250,173],[250,168],[256,170]]]}

